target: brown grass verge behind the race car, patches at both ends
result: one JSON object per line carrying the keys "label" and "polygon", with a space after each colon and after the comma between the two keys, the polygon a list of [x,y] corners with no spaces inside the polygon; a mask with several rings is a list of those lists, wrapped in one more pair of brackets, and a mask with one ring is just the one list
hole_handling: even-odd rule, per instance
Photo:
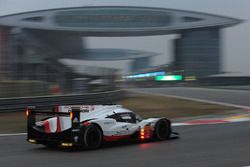
{"label": "brown grass verge behind the race car, patches at both ends", "polygon": [[[232,107],[134,93],[129,94],[129,98],[118,102],[118,104],[135,111],[143,118],[167,117],[174,119],[202,115],[221,115],[235,110]],[[26,117],[24,112],[0,114],[0,133],[25,131]]]}

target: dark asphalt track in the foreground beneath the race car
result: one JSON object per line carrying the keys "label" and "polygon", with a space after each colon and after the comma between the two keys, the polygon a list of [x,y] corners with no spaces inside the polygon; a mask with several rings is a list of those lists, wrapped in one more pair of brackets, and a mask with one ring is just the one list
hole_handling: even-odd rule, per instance
{"label": "dark asphalt track in the foreground beneath the race car", "polygon": [[179,126],[180,139],[106,146],[95,151],[48,149],[25,136],[0,137],[1,167],[243,167],[250,165],[250,122]]}

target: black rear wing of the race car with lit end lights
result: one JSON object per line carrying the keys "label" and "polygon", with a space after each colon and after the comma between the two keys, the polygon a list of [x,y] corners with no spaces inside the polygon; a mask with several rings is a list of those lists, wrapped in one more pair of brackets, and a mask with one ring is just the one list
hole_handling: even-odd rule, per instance
{"label": "black rear wing of the race car with lit end lights", "polygon": [[33,127],[36,125],[36,117],[38,115],[47,115],[47,116],[69,116],[71,118],[71,143],[72,145],[80,144],[80,112],[83,112],[80,107],[72,107],[68,110],[68,112],[59,112],[58,107],[54,107],[52,111],[44,111],[39,110],[35,106],[29,106],[26,109],[26,116],[27,116],[27,138],[34,137],[34,130]]}

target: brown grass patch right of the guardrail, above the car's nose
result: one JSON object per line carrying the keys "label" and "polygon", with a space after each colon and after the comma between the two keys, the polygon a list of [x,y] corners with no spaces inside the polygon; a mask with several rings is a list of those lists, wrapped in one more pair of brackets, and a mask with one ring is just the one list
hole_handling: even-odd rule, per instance
{"label": "brown grass patch right of the guardrail, above the car's nose", "polygon": [[236,110],[236,108],[222,105],[144,94],[130,94],[130,98],[124,99],[120,104],[135,111],[143,118],[167,117],[173,119],[203,115],[223,115]]}

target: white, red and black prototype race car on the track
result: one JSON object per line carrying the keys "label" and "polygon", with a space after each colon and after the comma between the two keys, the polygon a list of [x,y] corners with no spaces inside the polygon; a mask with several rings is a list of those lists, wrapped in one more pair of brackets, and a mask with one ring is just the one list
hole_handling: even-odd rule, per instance
{"label": "white, red and black prototype race car on the track", "polygon": [[177,134],[170,120],[143,120],[121,105],[66,105],[52,111],[30,106],[26,115],[27,141],[48,147],[97,149],[103,142],[166,140]]}

